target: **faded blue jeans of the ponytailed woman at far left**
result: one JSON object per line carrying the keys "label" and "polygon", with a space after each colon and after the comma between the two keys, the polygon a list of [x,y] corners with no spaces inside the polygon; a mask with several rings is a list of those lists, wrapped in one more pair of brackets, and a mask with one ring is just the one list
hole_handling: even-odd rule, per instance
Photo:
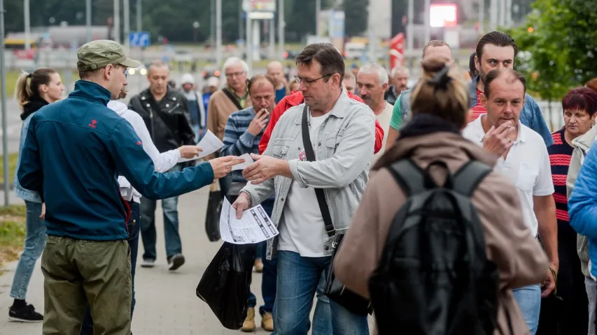
{"label": "faded blue jeans of the ponytailed woman at far left", "polygon": [[27,296],[27,287],[29,287],[35,262],[45,247],[45,222],[39,217],[41,203],[25,201],[25,207],[27,208],[27,237],[13,278],[13,288],[10,290],[10,297],[22,300]]}

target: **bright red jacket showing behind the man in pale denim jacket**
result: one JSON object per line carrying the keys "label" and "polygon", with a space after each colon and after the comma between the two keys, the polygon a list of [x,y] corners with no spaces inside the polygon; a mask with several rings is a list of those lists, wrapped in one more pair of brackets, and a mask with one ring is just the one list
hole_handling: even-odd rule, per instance
{"label": "bright red jacket showing behind the man in pale denim jacket", "polygon": [[[363,102],[361,98],[347,92],[349,98],[354,99],[360,103]],[[267,128],[265,128],[265,132],[261,137],[261,141],[259,142],[259,154],[263,154],[263,151],[267,149],[267,143],[269,143],[269,137],[272,135],[272,131],[274,131],[274,126],[276,123],[290,107],[294,107],[303,103],[304,97],[302,96],[301,91],[293,91],[290,96],[285,96],[277,105],[274,107],[274,111],[272,112],[272,116],[269,117],[269,124],[267,124]],[[374,147],[374,154],[377,154],[379,150],[381,150],[381,144],[384,142],[384,129],[381,128],[379,122],[375,120],[375,147]]]}

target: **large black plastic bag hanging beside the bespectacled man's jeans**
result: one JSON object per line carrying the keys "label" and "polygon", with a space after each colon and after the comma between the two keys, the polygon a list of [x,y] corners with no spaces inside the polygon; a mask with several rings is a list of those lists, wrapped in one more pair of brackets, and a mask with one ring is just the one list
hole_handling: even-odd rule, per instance
{"label": "large black plastic bag hanging beside the bespectacled man's jeans", "polygon": [[256,250],[256,244],[224,242],[197,285],[197,297],[227,329],[241,329],[246,318]]}

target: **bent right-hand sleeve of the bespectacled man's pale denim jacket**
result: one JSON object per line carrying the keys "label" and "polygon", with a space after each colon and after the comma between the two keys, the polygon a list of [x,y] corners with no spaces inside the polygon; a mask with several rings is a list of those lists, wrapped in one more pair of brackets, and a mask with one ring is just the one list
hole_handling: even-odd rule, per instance
{"label": "bent right-hand sleeve of the bespectacled man's pale denim jacket", "polygon": [[342,188],[370,164],[375,142],[375,119],[363,105],[346,125],[332,157],[321,161],[288,161],[290,172],[302,188]]}

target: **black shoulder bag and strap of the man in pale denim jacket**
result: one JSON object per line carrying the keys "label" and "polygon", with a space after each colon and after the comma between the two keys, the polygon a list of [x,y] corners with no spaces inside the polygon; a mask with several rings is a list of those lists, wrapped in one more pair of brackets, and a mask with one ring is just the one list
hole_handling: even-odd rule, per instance
{"label": "black shoulder bag and strap of the man in pale denim jacket", "polygon": [[[307,161],[315,161],[315,153],[313,151],[313,145],[311,144],[311,138],[309,137],[309,125],[307,121],[307,106],[304,106],[302,111],[302,144],[304,146],[304,153],[307,156]],[[325,193],[323,188],[315,188],[315,195],[317,197],[317,203],[319,204],[319,210],[323,217],[323,223],[325,223],[325,232],[328,233],[328,237],[336,236],[336,230],[332,223],[332,216],[330,215],[330,208],[328,202],[325,201]],[[347,289],[346,286],[342,285],[334,274],[334,260],[344,234],[338,234],[335,241],[332,242],[332,262],[330,262],[330,269],[328,269],[328,278],[325,281],[325,295],[330,300],[341,305],[351,313],[358,315],[367,315],[373,313],[373,306],[371,300],[365,299],[355,292]]]}

